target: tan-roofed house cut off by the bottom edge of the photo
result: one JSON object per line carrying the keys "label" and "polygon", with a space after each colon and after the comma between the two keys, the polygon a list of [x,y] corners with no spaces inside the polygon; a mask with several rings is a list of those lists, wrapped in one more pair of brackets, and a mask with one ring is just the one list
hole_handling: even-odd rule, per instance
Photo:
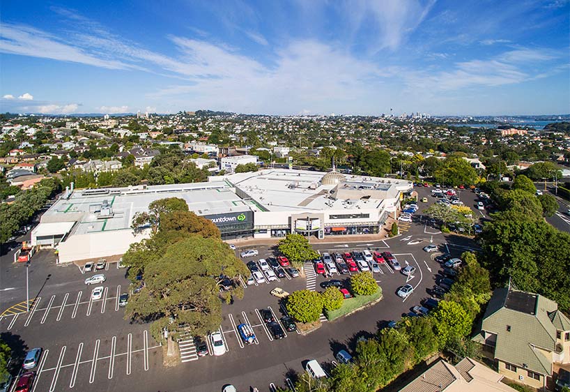
{"label": "tan-roofed house cut off by the bottom edge of the photo", "polygon": [[502,378],[470,358],[455,366],[440,360],[399,392],[515,392]]}

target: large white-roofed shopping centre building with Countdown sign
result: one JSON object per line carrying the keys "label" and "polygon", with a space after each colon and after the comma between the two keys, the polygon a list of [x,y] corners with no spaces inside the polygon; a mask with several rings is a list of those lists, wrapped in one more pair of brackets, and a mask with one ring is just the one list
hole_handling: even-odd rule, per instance
{"label": "large white-roofed shopping centre building with Countdown sign", "polygon": [[134,234],[133,216],[166,197],[185,199],[223,239],[375,234],[412,191],[410,181],[293,169],[212,176],[204,183],[70,189],[33,229],[31,244],[56,247],[59,262],[119,257],[150,235]]}

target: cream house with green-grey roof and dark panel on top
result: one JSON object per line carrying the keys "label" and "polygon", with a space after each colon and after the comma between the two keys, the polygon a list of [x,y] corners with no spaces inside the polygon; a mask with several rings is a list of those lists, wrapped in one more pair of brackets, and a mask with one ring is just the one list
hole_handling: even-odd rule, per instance
{"label": "cream house with green-grey roof and dark panel on top", "polygon": [[539,294],[496,289],[473,340],[501,375],[537,389],[551,384],[555,370],[570,367],[570,319]]}

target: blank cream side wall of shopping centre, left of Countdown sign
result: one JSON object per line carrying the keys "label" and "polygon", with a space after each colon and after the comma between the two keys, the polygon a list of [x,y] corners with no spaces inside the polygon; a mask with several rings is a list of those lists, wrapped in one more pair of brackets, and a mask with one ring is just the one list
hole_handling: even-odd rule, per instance
{"label": "blank cream side wall of shopping centre, left of Countdown sign", "polygon": [[148,236],[150,236],[150,231],[133,236],[131,229],[76,234],[70,236],[65,242],[59,243],[57,247],[59,262],[69,263],[83,259],[122,255],[131,243],[139,242]]}

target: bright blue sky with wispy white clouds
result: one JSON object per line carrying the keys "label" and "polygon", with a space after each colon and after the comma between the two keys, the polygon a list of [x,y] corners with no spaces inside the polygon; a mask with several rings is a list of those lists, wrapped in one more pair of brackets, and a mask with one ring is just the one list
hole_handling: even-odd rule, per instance
{"label": "bright blue sky with wispy white clouds", "polygon": [[570,1],[3,1],[0,112],[570,112]]}

